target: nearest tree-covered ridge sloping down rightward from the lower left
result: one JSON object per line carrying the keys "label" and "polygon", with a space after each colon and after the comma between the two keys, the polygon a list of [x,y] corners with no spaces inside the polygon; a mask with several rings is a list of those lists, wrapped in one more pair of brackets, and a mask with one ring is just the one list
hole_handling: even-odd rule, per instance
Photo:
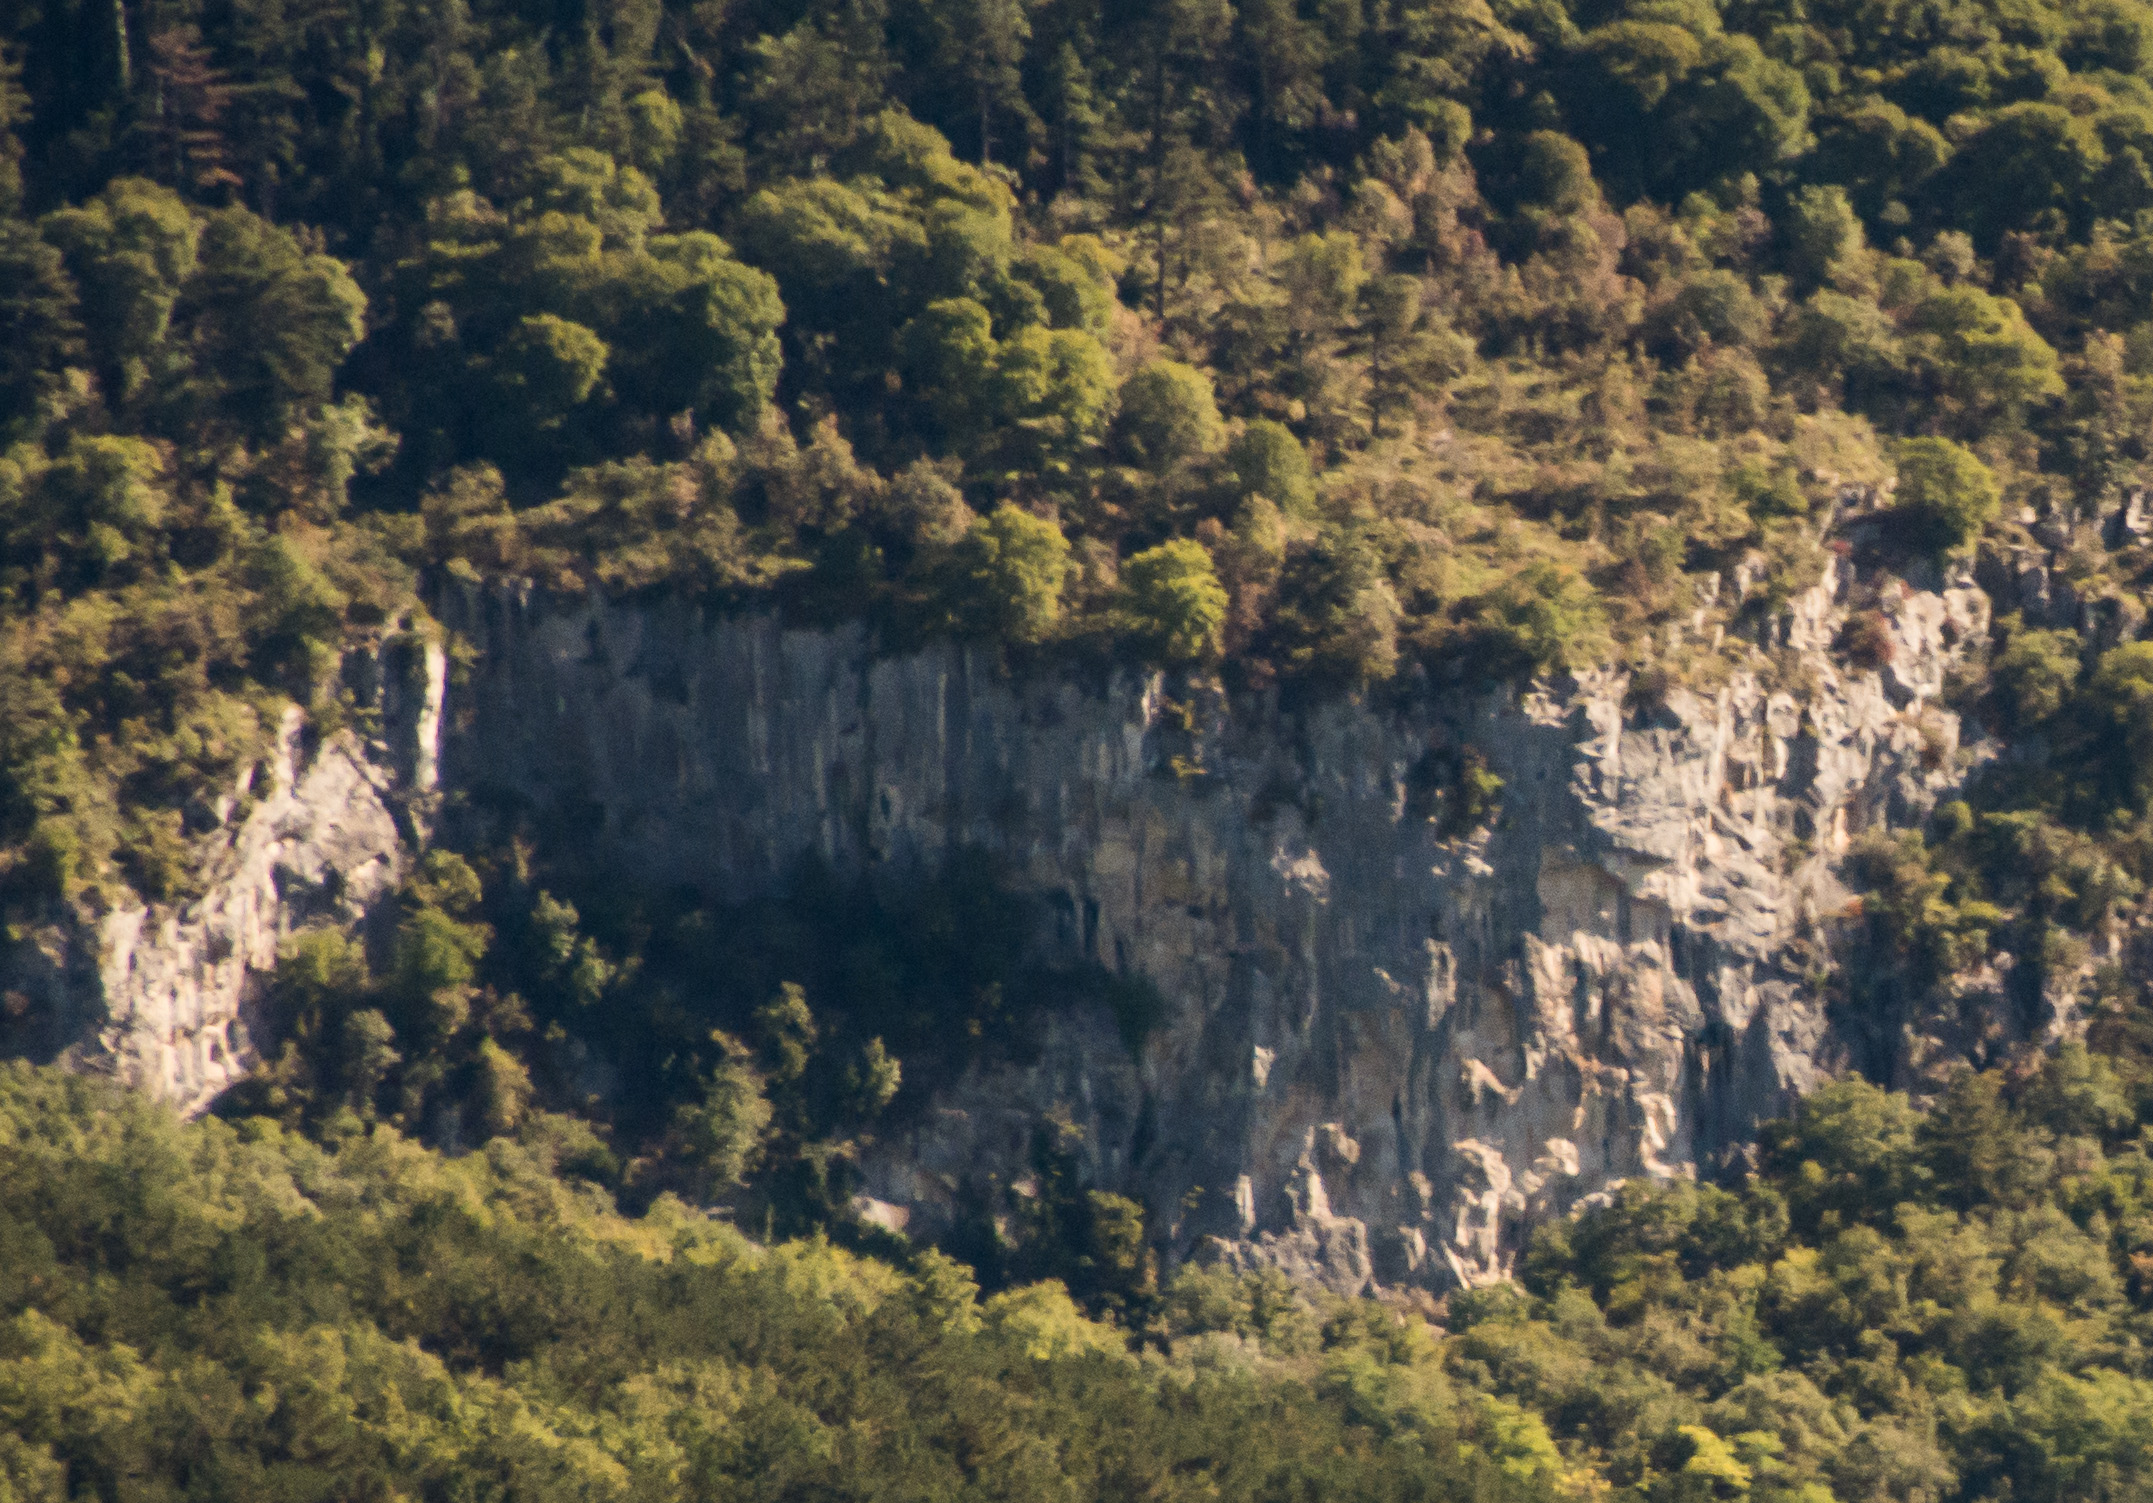
{"label": "nearest tree-covered ridge sloping down rightward from the lower left", "polygon": [[[0,1497],[1548,1497],[1430,1333],[1191,1281],[1148,1352],[1059,1286],[622,1221],[540,1139],[179,1126],[0,1066]],[[1165,1329],[1165,1326],[1163,1326]],[[1247,1333],[1247,1335],[1242,1335]],[[1272,1354],[1275,1352],[1275,1354]]]}

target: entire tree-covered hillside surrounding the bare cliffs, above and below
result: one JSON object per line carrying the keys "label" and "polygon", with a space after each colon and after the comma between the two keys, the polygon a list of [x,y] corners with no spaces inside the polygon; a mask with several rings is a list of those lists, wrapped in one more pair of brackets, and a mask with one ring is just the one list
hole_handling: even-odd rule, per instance
{"label": "entire tree-covered hillside surrounding the bare cliffs, above and below", "polygon": [[1046,1139],[969,1268],[850,1217],[906,1087],[1156,1006],[1027,971],[990,874],[726,909],[502,831],[293,945],[220,1120],[0,1079],[0,1503],[2142,1494],[2153,1074],[2088,958],[2153,881],[2149,377],[2136,0],[0,6],[0,943],[196,896],[448,579],[1649,711],[1791,678],[1839,553],[1996,590],[1998,756],[1852,851],[1819,986],[2093,975],[2093,1053],[1339,1303],[1160,1277]]}

